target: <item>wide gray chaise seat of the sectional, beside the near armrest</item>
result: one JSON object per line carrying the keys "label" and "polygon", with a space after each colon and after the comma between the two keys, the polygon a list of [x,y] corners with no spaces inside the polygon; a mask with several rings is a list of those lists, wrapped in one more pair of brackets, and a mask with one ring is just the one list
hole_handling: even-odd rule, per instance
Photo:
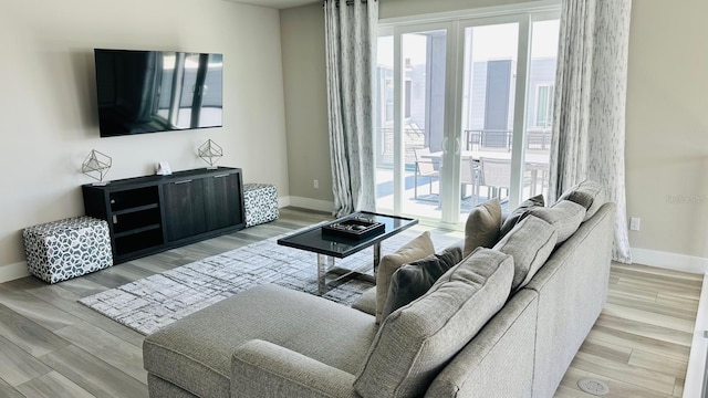
{"label": "wide gray chaise seat of the sectional, beside the near armrest", "polygon": [[374,317],[329,300],[259,285],[147,336],[145,369],[199,397],[229,397],[233,349],[263,339],[355,375],[378,331]]}

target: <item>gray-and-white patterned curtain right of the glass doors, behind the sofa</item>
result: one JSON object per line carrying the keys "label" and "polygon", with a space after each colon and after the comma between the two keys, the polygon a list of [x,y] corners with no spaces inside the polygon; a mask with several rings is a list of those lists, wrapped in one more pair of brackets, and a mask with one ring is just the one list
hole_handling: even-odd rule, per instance
{"label": "gray-and-white patterned curtain right of the glass doors, behind the sofa", "polygon": [[613,259],[631,263],[625,105],[632,0],[563,0],[549,197],[584,180],[617,205]]}

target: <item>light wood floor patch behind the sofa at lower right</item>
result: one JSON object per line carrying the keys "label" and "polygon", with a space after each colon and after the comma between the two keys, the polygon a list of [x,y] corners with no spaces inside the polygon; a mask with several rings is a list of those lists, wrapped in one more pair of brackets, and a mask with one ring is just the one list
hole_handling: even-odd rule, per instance
{"label": "light wood floor patch behind the sofa at lower right", "polygon": [[555,397],[592,397],[577,380],[610,386],[606,397],[681,397],[702,275],[614,263],[607,303]]}

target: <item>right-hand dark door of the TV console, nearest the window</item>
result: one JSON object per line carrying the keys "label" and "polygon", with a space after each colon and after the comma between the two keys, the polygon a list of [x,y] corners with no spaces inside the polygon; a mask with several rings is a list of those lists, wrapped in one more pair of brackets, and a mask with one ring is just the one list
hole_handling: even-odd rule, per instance
{"label": "right-hand dark door of the TV console, nearest the window", "polygon": [[208,231],[243,222],[240,174],[230,172],[206,177],[204,188]]}

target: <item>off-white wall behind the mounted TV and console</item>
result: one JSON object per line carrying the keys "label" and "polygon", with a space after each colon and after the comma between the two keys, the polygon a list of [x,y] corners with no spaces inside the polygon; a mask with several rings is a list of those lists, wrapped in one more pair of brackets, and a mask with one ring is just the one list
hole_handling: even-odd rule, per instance
{"label": "off-white wall behind the mounted TV and console", "polygon": [[[221,0],[2,1],[0,12],[0,281],[23,274],[21,230],[83,213],[81,163],[113,157],[107,179],[219,165],[289,195],[280,17]],[[100,138],[93,49],[223,53],[223,127]]]}

